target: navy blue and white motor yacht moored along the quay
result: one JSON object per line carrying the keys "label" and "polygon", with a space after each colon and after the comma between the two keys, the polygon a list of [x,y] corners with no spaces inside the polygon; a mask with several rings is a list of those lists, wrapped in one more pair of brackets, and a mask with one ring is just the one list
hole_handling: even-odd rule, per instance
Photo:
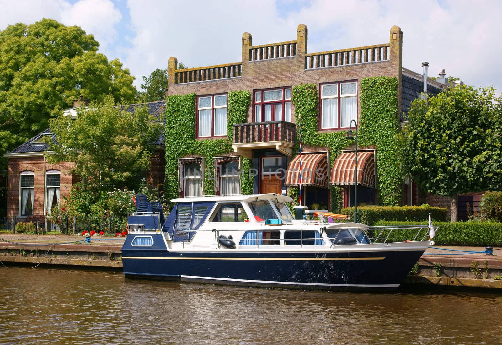
{"label": "navy blue and white motor yacht moored along the quay", "polygon": [[[127,278],[305,290],[395,290],[430,240],[429,226],[295,219],[280,194],[159,202],[136,198],[122,247]],[[391,242],[395,241],[395,242]],[[399,242],[397,242],[399,241]]]}

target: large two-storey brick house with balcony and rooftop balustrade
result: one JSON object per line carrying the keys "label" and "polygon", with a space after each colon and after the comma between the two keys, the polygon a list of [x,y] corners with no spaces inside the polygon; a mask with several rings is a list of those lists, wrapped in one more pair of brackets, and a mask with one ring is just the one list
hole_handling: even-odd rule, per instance
{"label": "large two-storey brick house with balcony and rooftop balustrade", "polygon": [[[253,193],[286,194],[298,188],[298,121],[292,103],[292,88],[296,85],[315,84],[318,90],[318,133],[346,132],[351,120],[358,122],[361,81],[371,77],[396,78],[396,126],[400,126],[400,117],[401,122],[405,121],[411,101],[424,89],[424,77],[403,68],[403,33],[399,27],[391,28],[389,43],[327,52],[308,53],[307,39],[307,27],[301,24],[294,41],[254,46],[251,34],[244,33],[238,63],[178,70],[177,59],[169,59],[167,99],[195,94],[193,139],[211,141],[228,136],[232,146],[218,157],[203,153],[176,157],[178,173],[166,171],[166,184],[177,179],[178,193],[169,197],[213,194],[203,185],[213,170],[214,194],[240,193],[243,175],[239,180],[239,175],[229,171],[241,166],[243,158],[251,160],[257,170]],[[427,80],[429,93],[437,94],[447,86],[444,74],[439,81]],[[227,133],[228,94],[240,90],[249,91],[252,98],[246,121],[232,124],[233,133]],[[166,145],[171,144],[175,143],[167,138]],[[377,193],[379,176],[375,167],[379,150],[385,148],[358,147],[358,204],[375,204],[382,197]],[[307,208],[333,209],[332,189],[338,187],[338,191],[342,189],[340,206],[353,205],[354,156],[353,145],[335,152],[327,146],[302,143],[302,169],[318,169],[324,175],[322,179],[304,176],[302,203]],[[205,171],[205,175],[194,177],[190,171]],[[418,196],[412,182],[403,177],[399,184],[401,203],[415,204]]]}

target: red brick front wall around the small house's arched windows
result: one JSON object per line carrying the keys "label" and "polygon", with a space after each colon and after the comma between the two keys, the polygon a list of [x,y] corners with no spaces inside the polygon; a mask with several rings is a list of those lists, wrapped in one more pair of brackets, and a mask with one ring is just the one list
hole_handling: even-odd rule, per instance
{"label": "red brick front wall around the small house's arched windows", "polygon": [[68,196],[71,186],[75,182],[75,177],[71,173],[74,164],[72,162],[61,162],[59,164],[46,164],[44,168],[44,157],[11,157],[9,158],[9,173],[7,179],[7,216],[19,215],[19,183],[22,171],[34,172],[33,188],[33,215],[44,216],[44,186],[45,171],[59,170],[60,177],[60,198]]}

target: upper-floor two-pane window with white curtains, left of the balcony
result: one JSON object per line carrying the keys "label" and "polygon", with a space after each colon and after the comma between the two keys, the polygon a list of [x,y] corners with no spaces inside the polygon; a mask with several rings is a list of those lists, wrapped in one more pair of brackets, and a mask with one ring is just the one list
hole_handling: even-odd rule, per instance
{"label": "upper-floor two-pane window with white curtains, left of the balcony", "polygon": [[197,137],[226,136],[227,95],[197,97]]}

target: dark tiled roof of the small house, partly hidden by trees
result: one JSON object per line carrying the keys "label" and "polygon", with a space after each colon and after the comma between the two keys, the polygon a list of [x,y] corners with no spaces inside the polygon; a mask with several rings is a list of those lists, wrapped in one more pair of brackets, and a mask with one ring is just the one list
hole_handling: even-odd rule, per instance
{"label": "dark tiled roof of the small house, partly hidden by trees", "polygon": [[[165,117],[162,115],[166,111],[166,101],[165,100],[159,100],[155,102],[147,102],[147,103],[136,103],[136,104],[128,104],[128,105],[117,105],[116,107],[119,108],[120,110],[126,109],[126,111],[133,112],[136,107],[142,107],[148,105],[149,108],[149,113],[153,114],[156,118],[161,119],[162,123],[165,124],[166,120]],[[70,108],[73,109],[73,108]],[[68,109],[66,109],[68,110]],[[18,146],[11,152],[4,154],[5,155],[11,155],[11,154],[27,154],[28,153],[35,153],[35,152],[45,152],[48,149],[47,144],[43,144],[39,142],[39,139],[41,139],[43,136],[47,135],[52,135],[52,131],[50,128],[46,129],[44,132],[41,132],[37,134],[35,137],[31,138],[28,140],[26,143]],[[56,136],[53,136],[52,138],[53,142],[57,144],[57,139]],[[165,134],[164,132],[161,134],[159,140],[157,140],[153,145],[164,145],[165,141]]]}

